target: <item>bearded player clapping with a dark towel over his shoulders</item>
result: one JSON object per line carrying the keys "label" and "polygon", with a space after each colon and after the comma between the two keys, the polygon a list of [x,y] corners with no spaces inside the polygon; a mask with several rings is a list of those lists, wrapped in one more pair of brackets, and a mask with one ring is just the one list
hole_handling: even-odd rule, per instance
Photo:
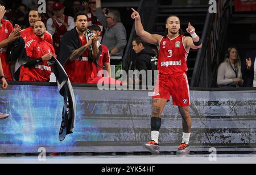
{"label": "bearded player clapping with a dark towel over his shoulders", "polygon": [[[88,84],[90,83],[90,80],[96,78],[93,71],[93,62],[89,60],[89,47],[90,45],[92,46],[93,57],[94,59],[97,58],[97,55],[99,53],[97,45],[98,35],[93,36],[88,40],[86,39],[88,18],[84,12],[79,12],[76,14],[75,24],[76,28],[74,28],[72,31],[67,32],[67,34],[65,34],[63,37],[65,40],[68,34],[72,34],[75,32],[76,35],[74,37],[77,37],[76,40],[80,41],[82,47],[73,51],[68,61],[65,62],[64,68],[68,74],[69,80],[72,83]],[[72,44],[72,42],[65,44],[70,45]]]}

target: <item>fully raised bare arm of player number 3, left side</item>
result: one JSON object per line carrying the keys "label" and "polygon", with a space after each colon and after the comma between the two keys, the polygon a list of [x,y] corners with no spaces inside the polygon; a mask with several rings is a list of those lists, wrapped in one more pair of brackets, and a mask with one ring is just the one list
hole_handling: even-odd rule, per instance
{"label": "fully raised bare arm of player number 3, left side", "polygon": [[135,30],[139,37],[141,37],[144,41],[150,44],[159,45],[160,40],[163,38],[161,35],[152,35],[147,31],[144,31],[144,28],[141,23],[141,16],[138,11],[133,10],[133,14],[131,14],[131,18],[135,20]]}

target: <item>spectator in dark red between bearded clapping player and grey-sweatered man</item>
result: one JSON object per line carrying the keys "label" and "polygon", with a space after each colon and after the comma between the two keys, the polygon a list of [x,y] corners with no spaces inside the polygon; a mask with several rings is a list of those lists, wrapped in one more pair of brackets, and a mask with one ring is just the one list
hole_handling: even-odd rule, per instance
{"label": "spectator in dark red between bearded clapping player and grey-sweatered man", "polygon": [[[102,41],[102,36],[104,34],[104,28],[103,25],[101,24],[101,22],[98,20],[97,16],[96,16],[96,0],[88,0],[87,2],[85,1],[84,3],[82,3],[82,6],[84,6],[85,9],[85,13],[88,16],[88,28],[90,30],[90,28],[96,24],[98,27],[101,28],[101,35],[99,37],[99,41],[101,43]],[[105,12],[104,12],[105,14]]]}

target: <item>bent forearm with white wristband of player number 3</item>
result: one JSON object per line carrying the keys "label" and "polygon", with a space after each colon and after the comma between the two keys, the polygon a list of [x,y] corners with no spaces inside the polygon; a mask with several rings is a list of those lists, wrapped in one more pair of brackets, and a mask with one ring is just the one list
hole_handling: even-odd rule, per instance
{"label": "bent forearm with white wristband of player number 3", "polygon": [[191,23],[188,23],[187,32],[192,36],[192,38],[185,37],[184,43],[186,48],[200,49],[202,47],[202,41],[196,34],[195,27],[191,26]]}

